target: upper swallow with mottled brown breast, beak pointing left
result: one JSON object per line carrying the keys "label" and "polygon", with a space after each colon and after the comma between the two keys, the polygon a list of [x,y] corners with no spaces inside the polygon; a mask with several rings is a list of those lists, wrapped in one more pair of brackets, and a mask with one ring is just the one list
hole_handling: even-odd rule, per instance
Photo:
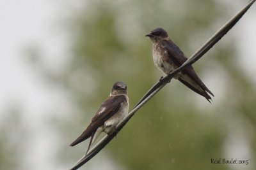
{"label": "upper swallow with mottled brown breast, beak pointing left", "polygon": [[[168,37],[168,34],[164,29],[154,29],[146,36],[152,41],[154,64],[163,71],[163,73],[171,73],[188,60],[180,48]],[[205,99],[211,103],[211,96],[214,95],[207,89],[202,80],[198,78],[192,66],[186,67],[184,71],[176,74],[174,78],[178,79],[189,89],[204,96]],[[211,96],[209,96],[208,93],[211,94]]]}

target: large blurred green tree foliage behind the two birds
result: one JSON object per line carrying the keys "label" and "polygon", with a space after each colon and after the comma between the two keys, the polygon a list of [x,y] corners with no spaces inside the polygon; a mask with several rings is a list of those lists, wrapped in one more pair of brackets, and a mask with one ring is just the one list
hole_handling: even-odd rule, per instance
{"label": "large blurred green tree foliage behind the two birds", "polygon": [[[54,73],[40,62],[44,56],[31,55],[31,64],[41,76],[63,88],[77,107],[67,117],[49,120],[61,139],[56,161],[68,168],[84,154],[88,142],[68,145],[90,123],[115,81],[127,83],[132,108],[163,75],[154,66],[145,34],[163,27],[189,57],[239,9],[227,8],[213,0],[109,0],[86,1],[72,9],[72,15],[63,20],[72,56],[63,69]],[[193,65],[216,96],[212,104],[173,80],[81,169],[97,169],[104,160],[113,162],[115,169],[234,168],[211,164],[211,159],[219,158],[246,159],[249,166],[235,167],[255,169],[256,86],[236,62],[239,57],[234,34],[229,33]],[[243,143],[250,157],[243,156],[243,147],[236,147]],[[1,143],[0,148],[6,147]],[[10,150],[1,149],[4,162],[3,153]]]}

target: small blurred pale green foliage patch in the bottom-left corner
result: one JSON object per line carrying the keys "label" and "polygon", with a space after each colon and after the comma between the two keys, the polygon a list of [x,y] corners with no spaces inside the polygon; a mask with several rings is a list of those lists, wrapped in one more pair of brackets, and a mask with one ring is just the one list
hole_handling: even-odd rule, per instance
{"label": "small blurred pale green foliage patch in the bottom-left corner", "polygon": [[22,121],[17,103],[10,106],[0,120],[0,169],[22,169],[29,131]]}

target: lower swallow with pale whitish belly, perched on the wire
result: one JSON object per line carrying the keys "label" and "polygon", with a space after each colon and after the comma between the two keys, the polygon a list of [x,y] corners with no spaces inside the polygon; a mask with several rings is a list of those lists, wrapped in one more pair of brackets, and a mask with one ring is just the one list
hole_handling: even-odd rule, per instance
{"label": "lower swallow with pale whitish belly, perched on the wire", "polygon": [[73,141],[70,146],[75,146],[82,141],[90,139],[90,146],[99,137],[101,132],[110,135],[115,132],[116,125],[128,115],[129,98],[127,96],[127,86],[122,81],[117,81],[110,92],[108,99],[102,103],[96,115],[92,118],[92,122],[83,131],[83,133]]}

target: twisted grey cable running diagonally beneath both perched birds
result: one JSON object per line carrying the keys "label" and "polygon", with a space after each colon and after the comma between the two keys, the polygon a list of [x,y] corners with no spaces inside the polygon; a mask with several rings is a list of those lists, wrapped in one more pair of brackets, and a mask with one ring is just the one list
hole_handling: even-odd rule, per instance
{"label": "twisted grey cable running diagonally beneath both perched birds", "polygon": [[150,100],[159,90],[161,90],[168,82],[170,82],[175,76],[175,74],[179,73],[183,69],[191,64],[195,63],[196,60],[200,59],[206,52],[208,52],[212,46],[214,46],[225,34],[227,34],[230,29],[239,21],[241,17],[243,17],[244,13],[255,3],[256,0],[251,0],[244,6],[244,8],[239,11],[233,18],[231,18],[223,27],[221,27],[204,45],[202,45],[182,66],[178,67],[172,73],[164,76],[161,80],[157,81],[157,83],[150,89],[148,92],[140,99],[140,101],[136,104],[136,106],[130,111],[127,117],[124,118],[118,125],[116,125],[116,132],[113,132],[110,136],[106,135],[102,138],[99,143],[97,143],[89,152],[84,155],[81,159],[79,159],[74,166],[70,168],[70,170],[78,169],[83,166],[86,162],[92,159],[97,153],[102,150],[106,145],[108,145],[109,141],[111,141],[116,134],[124,127],[125,124],[132,118],[132,116],[136,113],[137,110],[141,108],[148,100]]}

